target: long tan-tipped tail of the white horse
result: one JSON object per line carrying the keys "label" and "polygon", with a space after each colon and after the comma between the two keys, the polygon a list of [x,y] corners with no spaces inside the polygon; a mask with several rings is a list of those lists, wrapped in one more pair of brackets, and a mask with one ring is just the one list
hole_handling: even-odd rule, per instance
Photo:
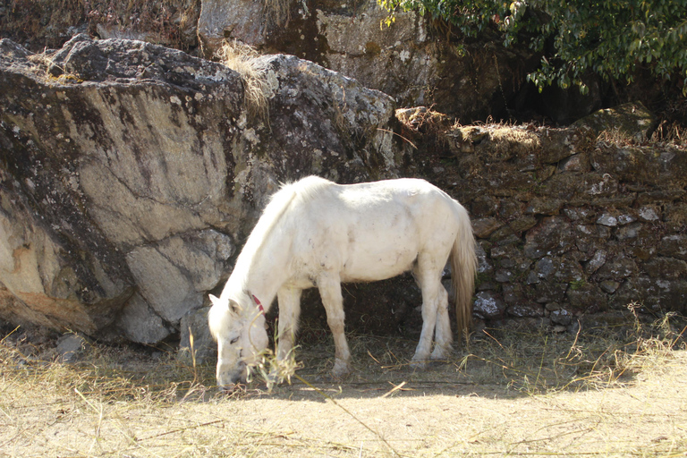
{"label": "long tan-tipped tail of the white horse", "polygon": [[458,335],[468,336],[472,324],[472,293],[477,275],[477,254],[475,237],[472,234],[470,216],[458,204],[458,235],[451,250],[451,278],[454,284],[455,320]]}

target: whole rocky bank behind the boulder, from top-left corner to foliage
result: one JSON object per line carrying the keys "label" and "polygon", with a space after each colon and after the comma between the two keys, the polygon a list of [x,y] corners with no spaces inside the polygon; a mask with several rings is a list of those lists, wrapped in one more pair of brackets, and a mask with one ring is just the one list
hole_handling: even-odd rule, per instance
{"label": "whole rocky bank behind the boulder, from top-left corner to foliage", "polygon": [[434,106],[462,123],[534,115],[567,124],[600,107],[603,97],[598,79],[587,81],[587,96],[556,86],[539,94],[526,75],[541,56],[529,48],[503,47],[492,28],[462,38],[415,13],[397,13],[387,27],[376,0],[90,0],[87,7],[34,0],[27,8],[0,5],[0,30],[35,52],[62,47],[84,32],[205,57],[223,40],[237,39],[263,54],[297,55],[343,72],[401,106]]}

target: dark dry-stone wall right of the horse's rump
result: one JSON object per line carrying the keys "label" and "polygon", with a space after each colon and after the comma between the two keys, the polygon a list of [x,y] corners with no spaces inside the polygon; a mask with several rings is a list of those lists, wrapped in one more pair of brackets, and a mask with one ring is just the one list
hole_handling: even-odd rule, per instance
{"label": "dark dry-stone wall right of the horse's rump", "polygon": [[470,126],[428,155],[425,173],[471,211],[477,318],[563,331],[630,304],[687,311],[687,152],[615,133]]}

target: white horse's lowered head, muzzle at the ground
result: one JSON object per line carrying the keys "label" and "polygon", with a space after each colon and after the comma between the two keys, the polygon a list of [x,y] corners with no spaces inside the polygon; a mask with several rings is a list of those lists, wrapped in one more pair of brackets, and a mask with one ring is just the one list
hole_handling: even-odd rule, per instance
{"label": "white horse's lowered head, muzzle at the ground", "polygon": [[219,299],[210,294],[210,333],[217,341],[217,386],[231,391],[245,383],[248,368],[269,343],[265,315],[251,303]]}

